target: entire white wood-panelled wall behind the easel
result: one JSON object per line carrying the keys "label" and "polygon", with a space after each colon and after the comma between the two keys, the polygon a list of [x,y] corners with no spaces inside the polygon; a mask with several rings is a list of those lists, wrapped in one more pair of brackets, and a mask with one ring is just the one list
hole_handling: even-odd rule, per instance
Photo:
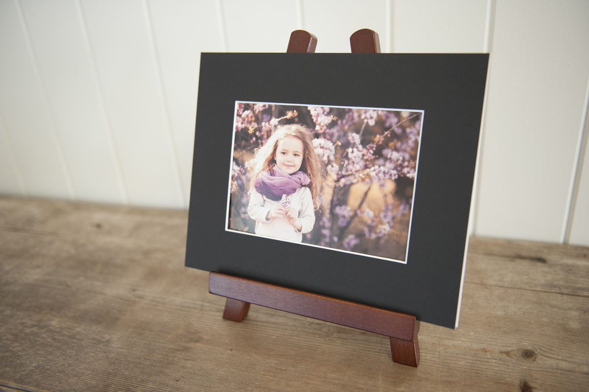
{"label": "entire white wood-panelled wall behind the easel", "polygon": [[383,52],[492,53],[476,234],[589,246],[588,20],[581,0],[0,0],[0,193],[187,208],[200,52],[283,52],[298,28],[349,52],[368,27]]}

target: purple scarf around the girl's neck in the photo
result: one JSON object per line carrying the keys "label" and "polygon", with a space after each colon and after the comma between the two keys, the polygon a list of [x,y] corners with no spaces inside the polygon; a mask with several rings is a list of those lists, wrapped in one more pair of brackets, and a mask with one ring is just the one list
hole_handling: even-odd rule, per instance
{"label": "purple scarf around the girl's neck in the photo", "polygon": [[282,195],[292,195],[301,186],[309,186],[311,180],[305,172],[292,174],[284,172],[278,166],[272,166],[270,170],[264,170],[254,180],[254,188],[260,195],[270,200],[278,201]]}

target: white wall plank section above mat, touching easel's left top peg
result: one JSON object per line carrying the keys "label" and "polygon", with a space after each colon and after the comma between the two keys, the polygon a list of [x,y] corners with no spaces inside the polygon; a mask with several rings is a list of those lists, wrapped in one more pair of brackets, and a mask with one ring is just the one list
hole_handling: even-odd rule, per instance
{"label": "white wall plank section above mat, touching easel's left top peg", "polygon": [[290,33],[297,29],[294,1],[219,0],[227,51],[286,52]]}

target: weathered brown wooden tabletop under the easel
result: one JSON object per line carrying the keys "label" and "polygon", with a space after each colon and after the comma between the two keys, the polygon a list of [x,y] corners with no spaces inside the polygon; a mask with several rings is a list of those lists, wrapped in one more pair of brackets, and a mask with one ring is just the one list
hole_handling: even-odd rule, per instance
{"label": "weathered brown wooden tabletop under the easel", "polygon": [[[458,330],[389,340],[184,267],[187,212],[0,197],[0,391],[589,391],[589,248],[472,238]],[[230,246],[230,244],[228,244]]]}

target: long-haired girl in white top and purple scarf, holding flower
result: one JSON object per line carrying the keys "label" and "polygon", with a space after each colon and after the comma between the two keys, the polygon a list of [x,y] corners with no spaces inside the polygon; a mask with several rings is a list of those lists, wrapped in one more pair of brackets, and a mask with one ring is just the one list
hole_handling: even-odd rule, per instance
{"label": "long-haired girl in white top and purple scarf, holding flower", "polygon": [[256,234],[302,242],[315,225],[325,176],[311,131],[300,124],[277,127],[250,167],[247,213],[256,221]]}

